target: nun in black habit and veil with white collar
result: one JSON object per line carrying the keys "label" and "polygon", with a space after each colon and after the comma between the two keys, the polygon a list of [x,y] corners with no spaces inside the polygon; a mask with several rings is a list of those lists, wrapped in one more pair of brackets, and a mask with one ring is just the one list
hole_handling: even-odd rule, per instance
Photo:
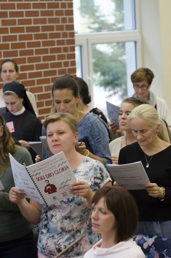
{"label": "nun in black habit and veil with white collar", "polygon": [[42,123],[34,113],[24,86],[15,81],[6,83],[3,86],[3,98],[6,105],[6,113],[3,117],[6,125],[11,129],[11,136],[29,150],[35,162],[36,153],[28,141],[40,141]]}

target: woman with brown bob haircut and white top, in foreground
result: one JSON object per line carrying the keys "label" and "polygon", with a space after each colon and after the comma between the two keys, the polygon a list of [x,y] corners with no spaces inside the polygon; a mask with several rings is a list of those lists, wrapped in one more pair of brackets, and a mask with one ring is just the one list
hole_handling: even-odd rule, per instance
{"label": "woman with brown bob haircut and white top, in foreground", "polygon": [[132,195],[117,186],[99,189],[92,199],[92,231],[101,235],[84,258],[145,258],[133,241],[138,208]]}

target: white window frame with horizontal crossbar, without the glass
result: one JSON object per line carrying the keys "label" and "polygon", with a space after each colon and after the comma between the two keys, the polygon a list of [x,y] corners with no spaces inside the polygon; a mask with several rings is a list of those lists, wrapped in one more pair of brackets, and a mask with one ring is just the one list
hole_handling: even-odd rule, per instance
{"label": "white window frame with horizontal crossbar, without the glass", "polygon": [[[94,44],[108,44],[118,42],[135,42],[136,67],[142,66],[142,37],[140,31],[139,19],[139,0],[135,0],[135,30],[113,31],[113,32],[97,32],[97,33],[81,33],[75,34],[75,44],[81,47],[82,53],[82,78],[87,82],[89,92],[91,94],[91,103],[93,106],[93,67],[91,46]],[[129,86],[128,86],[129,87]],[[129,91],[129,89],[128,89]],[[106,113],[106,112],[105,112]]]}

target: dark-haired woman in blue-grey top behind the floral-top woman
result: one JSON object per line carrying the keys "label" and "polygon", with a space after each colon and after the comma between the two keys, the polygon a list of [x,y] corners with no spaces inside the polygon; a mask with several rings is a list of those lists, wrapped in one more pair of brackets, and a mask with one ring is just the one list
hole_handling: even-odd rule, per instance
{"label": "dark-haired woman in blue-grey top behind the floral-top woman", "polygon": [[[112,163],[107,126],[98,116],[78,108],[80,93],[77,82],[70,74],[57,78],[52,87],[52,110],[51,115],[56,112],[70,113],[78,122],[79,139],[75,147],[84,156],[100,161],[102,164]],[[42,135],[45,135],[43,128]],[[40,161],[39,156],[36,161]],[[43,159],[47,158],[43,153]]]}

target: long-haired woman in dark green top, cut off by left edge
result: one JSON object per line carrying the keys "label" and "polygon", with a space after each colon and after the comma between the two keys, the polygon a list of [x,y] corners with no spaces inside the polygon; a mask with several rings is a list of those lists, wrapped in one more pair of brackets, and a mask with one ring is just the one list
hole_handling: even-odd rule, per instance
{"label": "long-haired woman in dark green top, cut off by left edge", "polygon": [[0,114],[0,258],[35,258],[32,225],[9,200],[14,180],[8,153],[21,164],[33,163],[28,150],[15,145]]}

